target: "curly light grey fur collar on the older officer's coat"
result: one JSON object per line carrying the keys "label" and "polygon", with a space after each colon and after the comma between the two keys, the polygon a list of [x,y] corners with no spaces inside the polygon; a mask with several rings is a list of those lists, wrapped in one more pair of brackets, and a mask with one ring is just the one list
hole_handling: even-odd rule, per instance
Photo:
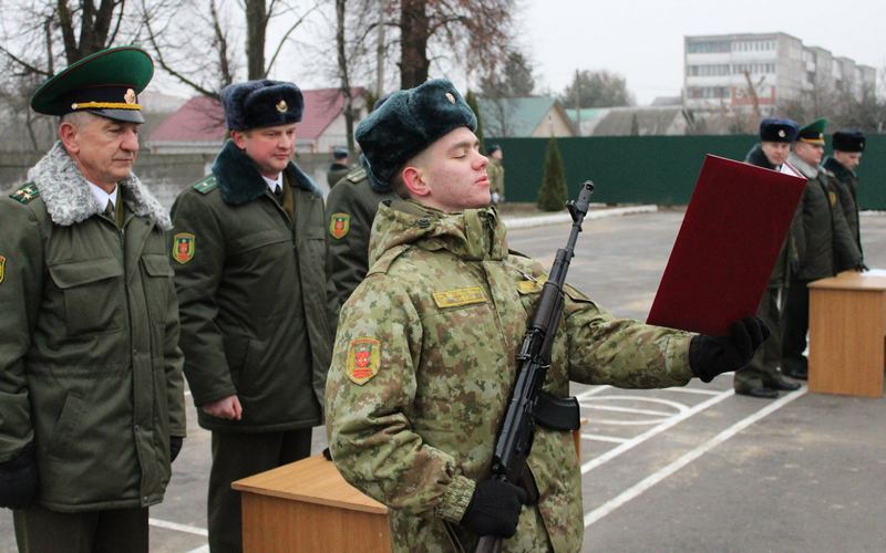
{"label": "curly light grey fur collar on the older officer's coat", "polygon": [[[47,212],[55,225],[70,227],[104,211],[105,207],[95,200],[90,185],[61,142],[56,142],[28,171],[28,180],[37,185]],[[147,217],[164,230],[173,228],[169,215],[138,177],[131,175],[119,185],[123,201],[135,215]]]}

